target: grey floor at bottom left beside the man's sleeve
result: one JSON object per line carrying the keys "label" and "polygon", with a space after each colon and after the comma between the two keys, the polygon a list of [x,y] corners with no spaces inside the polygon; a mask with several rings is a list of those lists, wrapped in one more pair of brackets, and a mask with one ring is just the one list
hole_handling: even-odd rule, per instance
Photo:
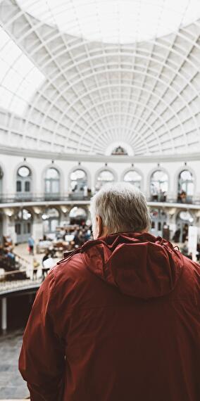
{"label": "grey floor at bottom left beside the man's sleeve", "polygon": [[18,371],[22,331],[0,336],[0,400],[21,400],[29,392]]}

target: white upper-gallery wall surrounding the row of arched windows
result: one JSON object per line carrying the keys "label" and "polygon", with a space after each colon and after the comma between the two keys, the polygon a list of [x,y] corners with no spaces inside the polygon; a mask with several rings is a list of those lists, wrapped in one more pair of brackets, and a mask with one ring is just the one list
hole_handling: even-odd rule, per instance
{"label": "white upper-gallery wall surrounding the row of arched windows", "polygon": [[125,170],[135,168],[142,172],[144,177],[143,188],[146,196],[149,196],[149,179],[151,173],[158,168],[162,168],[166,172],[168,172],[169,177],[169,197],[175,197],[177,195],[177,177],[181,170],[189,169],[194,174],[195,180],[195,196],[200,196],[200,180],[198,179],[197,172],[200,170],[200,160],[189,161],[187,165],[185,163],[180,162],[172,162],[172,163],[160,163],[159,167],[156,163],[135,163],[134,167],[130,163],[108,163],[105,166],[105,163],[99,162],[82,162],[80,165],[77,162],[68,161],[68,160],[55,160],[54,164],[51,163],[51,160],[46,160],[42,158],[27,158],[24,162],[23,158],[19,156],[9,156],[9,155],[0,155],[1,161],[0,164],[4,170],[4,194],[13,194],[15,193],[15,179],[18,167],[20,165],[27,165],[32,170],[32,193],[44,193],[44,176],[45,171],[48,167],[58,168],[61,173],[61,193],[66,193],[69,190],[69,174],[74,167],[77,168],[85,168],[85,170],[89,171],[90,179],[91,179],[91,187],[94,189],[95,186],[95,176],[96,172],[100,170],[102,167],[111,168],[111,170],[115,171],[116,177],[118,181],[120,181],[123,177]]}

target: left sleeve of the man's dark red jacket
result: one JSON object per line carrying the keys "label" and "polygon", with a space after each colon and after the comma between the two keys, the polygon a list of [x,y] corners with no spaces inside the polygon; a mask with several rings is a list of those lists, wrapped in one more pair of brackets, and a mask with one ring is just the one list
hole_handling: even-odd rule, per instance
{"label": "left sleeve of the man's dark red jacket", "polygon": [[65,348],[51,318],[54,287],[53,269],[39,288],[23,336],[19,370],[32,401],[62,399]]}

